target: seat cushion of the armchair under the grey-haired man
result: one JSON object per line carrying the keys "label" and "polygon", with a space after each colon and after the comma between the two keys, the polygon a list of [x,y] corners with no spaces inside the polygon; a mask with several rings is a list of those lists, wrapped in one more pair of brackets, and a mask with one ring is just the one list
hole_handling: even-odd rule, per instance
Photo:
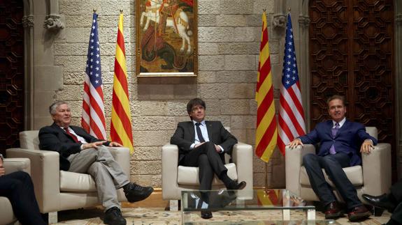
{"label": "seat cushion of the armchair under the grey-haired man", "polygon": [[96,192],[96,184],[89,174],[60,171],[60,191]]}

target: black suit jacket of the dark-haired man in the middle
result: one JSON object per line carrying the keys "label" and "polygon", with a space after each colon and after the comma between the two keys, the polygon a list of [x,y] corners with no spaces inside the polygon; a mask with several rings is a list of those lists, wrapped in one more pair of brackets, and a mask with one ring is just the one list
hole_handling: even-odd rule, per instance
{"label": "black suit jacket of the dark-haired man in the middle", "polygon": [[[231,155],[233,146],[237,143],[236,137],[224,129],[220,121],[206,121],[209,140],[213,143],[222,146],[224,153]],[[190,146],[195,141],[194,123],[192,121],[180,122],[178,127],[171,137],[171,144],[179,147],[179,164],[182,164],[182,159],[185,154],[189,153]],[[222,162],[224,162],[224,154],[220,154]]]}

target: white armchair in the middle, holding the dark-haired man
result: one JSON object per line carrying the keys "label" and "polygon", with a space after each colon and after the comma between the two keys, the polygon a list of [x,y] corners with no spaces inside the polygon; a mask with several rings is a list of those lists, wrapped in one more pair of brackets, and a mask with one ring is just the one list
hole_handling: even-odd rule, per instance
{"label": "white armchair in the middle, holding the dark-haired man", "polygon": [[[247,183],[245,189],[238,191],[239,198],[252,198],[252,155],[252,146],[237,143],[232,152],[233,163],[225,164],[229,178]],[[182,191],[199,189],[199,168],[178,166],[178,157],[178,146],[167,143],[162,147],[162,198],[171,201],[171,209],[176,208]],[[222,187],[224,184],[215,176],[213,189]]]}

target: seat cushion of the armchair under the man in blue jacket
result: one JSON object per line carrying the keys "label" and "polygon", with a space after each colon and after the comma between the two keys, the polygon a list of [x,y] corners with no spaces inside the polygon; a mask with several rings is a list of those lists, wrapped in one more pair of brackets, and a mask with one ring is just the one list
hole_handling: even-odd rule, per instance
{"label": "seat cushion of the armchair under the man in blue jacket", "polygon": [[[350,167],[345,167],[343,168],[343,171],[345,171],[347,178],[350,180],[352,185],[355,187],[359,187],[363,185],[363,171],[361,169],[361,166],[350,166]],[[335,187],[333,185],[332,181],[329,180],[328,176],[326,175],[324,169],[322,169],[322,172],[324,173],[325,180],[331,187]],[[308,175],[306,168],[304,166],[301,166],[300,170],[300,183],[303,186],[308,186],[310,187],[310,180],[308,180]]]}

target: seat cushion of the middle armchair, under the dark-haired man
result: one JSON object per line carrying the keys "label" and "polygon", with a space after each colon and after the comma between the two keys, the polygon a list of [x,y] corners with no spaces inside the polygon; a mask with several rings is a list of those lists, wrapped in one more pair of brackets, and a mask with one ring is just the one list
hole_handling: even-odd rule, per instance
{"label": "seat cushion of the middle armchair, under the dark-haired man", "polygon": [[[227,176],[232,180],[237,180],[236,164],[225,164],[227,168]],[[199,185],[199,168],[191,166],[178,166],[178,184],[179,185]],[[222,185],[215,175],[213,178],[213,185]]]}

